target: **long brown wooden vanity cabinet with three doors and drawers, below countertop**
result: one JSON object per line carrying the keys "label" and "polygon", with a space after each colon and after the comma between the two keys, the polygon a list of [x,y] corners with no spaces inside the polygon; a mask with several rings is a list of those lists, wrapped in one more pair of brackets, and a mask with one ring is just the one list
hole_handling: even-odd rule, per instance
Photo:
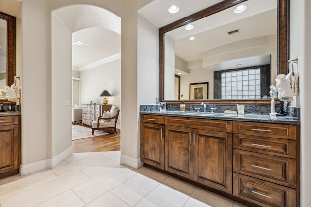
{"label": "long brown wooden vanity cabinet with three doors and drawers, below countertop", "polygon": [[246,205],[299,206],[300,126],[141,115],[141,160]]}

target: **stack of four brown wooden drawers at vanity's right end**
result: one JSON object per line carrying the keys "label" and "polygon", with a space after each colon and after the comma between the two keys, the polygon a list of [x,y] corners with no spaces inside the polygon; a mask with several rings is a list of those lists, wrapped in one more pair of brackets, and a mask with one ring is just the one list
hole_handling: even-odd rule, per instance
{"label": "stack of four brown wooden drawers at vanity's right end", "polygon": [[233,195],[264,207],[299,206],[299,130],[233,122]]}

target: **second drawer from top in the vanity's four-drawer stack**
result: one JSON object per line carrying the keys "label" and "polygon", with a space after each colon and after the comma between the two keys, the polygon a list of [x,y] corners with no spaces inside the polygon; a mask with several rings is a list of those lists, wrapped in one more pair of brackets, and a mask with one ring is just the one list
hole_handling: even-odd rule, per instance
{"label": "second drawer from top in the vanity's four-drawer stack", "polygon": [[293,159],[296,158],[296,141],[288,139],[233,134],[233,148]]}

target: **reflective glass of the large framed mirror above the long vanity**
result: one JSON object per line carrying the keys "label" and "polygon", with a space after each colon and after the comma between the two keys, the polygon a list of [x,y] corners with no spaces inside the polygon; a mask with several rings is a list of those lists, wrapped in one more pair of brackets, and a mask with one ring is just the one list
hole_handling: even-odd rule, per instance
{"label": "reflective glass of the large framed mirror above the long vanity", "polygon": [[269,97],[277,74],[277,0],[246,5],[241,13],[228,8],[191,22],[191,30],[165,33],[165,100],[197,99],[190,85],[202,82],[208,99]]}

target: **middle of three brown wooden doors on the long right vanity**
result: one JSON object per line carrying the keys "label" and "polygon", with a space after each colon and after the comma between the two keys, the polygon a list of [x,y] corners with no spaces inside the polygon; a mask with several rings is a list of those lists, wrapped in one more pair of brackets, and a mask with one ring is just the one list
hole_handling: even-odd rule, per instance
{"label": "middle of three brown wooden doors on the long right vanity", "polygon": [[193,179],[192,129],[165,126],[165,170]]}

